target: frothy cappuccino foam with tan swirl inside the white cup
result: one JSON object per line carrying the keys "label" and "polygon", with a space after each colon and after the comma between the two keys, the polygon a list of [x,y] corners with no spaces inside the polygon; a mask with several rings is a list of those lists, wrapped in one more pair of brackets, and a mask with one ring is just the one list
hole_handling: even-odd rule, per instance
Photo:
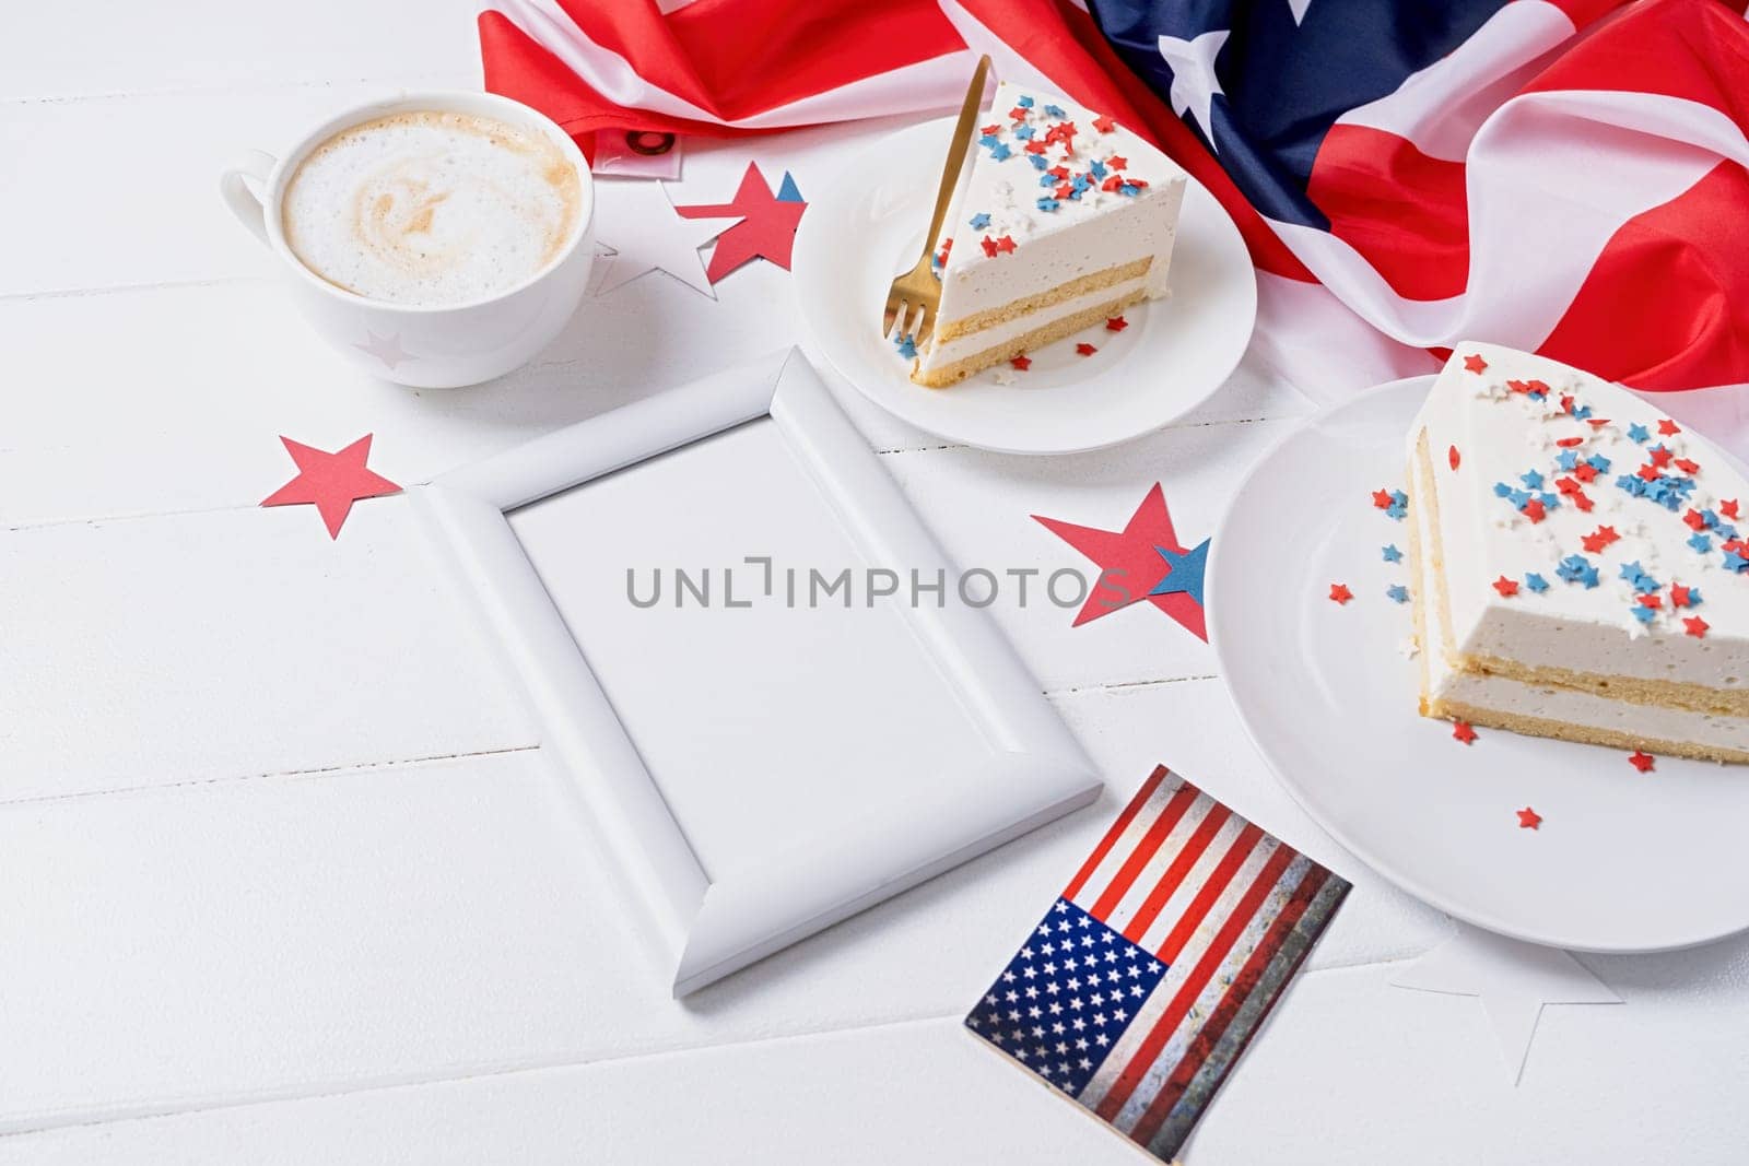
{"label": "frothy cappuccino foam with tan swirl inside the white cup", "polygon": [[505,292],[565,250],[577,168],[546,135],[495,117],[413,110],[322,142],[285,187],[292,253],[329,283],[397,304]]}

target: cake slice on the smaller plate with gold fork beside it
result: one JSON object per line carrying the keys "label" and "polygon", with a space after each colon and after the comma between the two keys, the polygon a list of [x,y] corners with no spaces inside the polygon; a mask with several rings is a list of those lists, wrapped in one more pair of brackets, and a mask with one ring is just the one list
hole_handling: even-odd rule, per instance
{"label": "cake slice on the smaller plate with gold fork beside it", "polygon": [[1167,294],[1184,171],[1067,98],[1002,82],[936,243],[941,388]]}

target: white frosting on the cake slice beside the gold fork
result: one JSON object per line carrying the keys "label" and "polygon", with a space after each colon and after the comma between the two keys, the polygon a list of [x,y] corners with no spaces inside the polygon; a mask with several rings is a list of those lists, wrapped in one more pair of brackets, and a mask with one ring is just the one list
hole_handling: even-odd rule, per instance
{"label": "white frosting on the cake slice beside the gold fork", "polygon": [[[1021,108],[1021,98],[1032,107]],[[1048,114],[1055,107],[1062,115]],[[1023,114],[1014,117],[1013,114]],[[1032,131],[1032,142],[1044,142],[1055,126],[1072,122],[1070,140],[1058,138],[1046,147],[1042,157],[1049,166],[1063,166],[1088,182],[1079,198],[1055,199],[1055,210],[1042,210],[1041,198],[1055,198],[1056,185],[1042,187],[1044,171],[1028,161],[1027,140],[1016,133]],[[1098,124],[1111,126],[1100,131]],[[960,182],[958,196],[943,227],[943,238],[953,239],[948,262],[941,271],[939,320],[957,320],[992,308],[1000,308],[1025,295],[1046,292],[1070,280],[1105,271],[1139,259],[1151,259],[1147,269],[1147,295],[1167,294],[1167,276],[1172,260],[1179,206],[1184,199],[1186,175],[1177,163],[1139,138],[1135,133],[1100,119],[1098,114],[1067,98],[1028,86],[1002,82],[988,110],[979,115],[979,129],[997,128],[992,135],[1007,150],[999,159],[992,145],[972,143],[972,161]],[[1114,168],[1112,157],[1123,166]],[[1104,177],[1088,177],[1095,163]],[[1102,191],[1105,180],[1139,178],[1144,187],[1133,194]],[[978,215],[990,222],[972,227]],[[983,239],[1009,238],[1011,252],[986,255]],[[941,252],[941,241],[936,245]],[[1060,315],[1058,306],[1046,309],[1021,330],[1039,327],[1039,320]],[[988,348],[990,344],[983,344]],[[923,365],[941,365],[955,357],[941,350],[925,351]],[[976,350],[972,350],[976,351]]]}

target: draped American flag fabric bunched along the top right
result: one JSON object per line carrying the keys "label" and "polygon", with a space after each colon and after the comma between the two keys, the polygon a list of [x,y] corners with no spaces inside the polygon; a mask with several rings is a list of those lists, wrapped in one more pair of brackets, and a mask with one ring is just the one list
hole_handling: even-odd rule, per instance
{"label": "draped American flag fabric bunched along the top right", "polygon": [[946,110],[990,52],[1221,199],[1315,395],[1462,339],[1749,383],[1744,0],[486,3],[488,87],[586,150]]}

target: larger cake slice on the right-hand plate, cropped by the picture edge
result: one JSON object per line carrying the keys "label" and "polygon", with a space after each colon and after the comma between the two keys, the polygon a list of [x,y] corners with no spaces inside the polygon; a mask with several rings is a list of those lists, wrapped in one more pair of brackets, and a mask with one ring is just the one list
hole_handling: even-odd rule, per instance
{"label": "larger cake slice on the right-hand plate, cropped by the picture edge", "polygon": [[1410,427],[1408,493],[1422,715],[1749,762],[1749,482],[1705,439],[1459,344]]}

